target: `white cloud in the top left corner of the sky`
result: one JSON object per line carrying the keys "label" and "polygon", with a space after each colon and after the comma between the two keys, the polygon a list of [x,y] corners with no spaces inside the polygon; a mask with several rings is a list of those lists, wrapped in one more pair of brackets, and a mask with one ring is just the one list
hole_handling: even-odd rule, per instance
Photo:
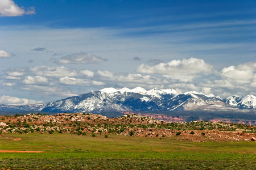
{"label": "white cloud in the top left corner of the sky", "polygon": [[27,11],[24,7],[19,7],[13,0],[1,0],[0,1],[0,16],[22,16],[35,14],[35,8],[30,7]]}

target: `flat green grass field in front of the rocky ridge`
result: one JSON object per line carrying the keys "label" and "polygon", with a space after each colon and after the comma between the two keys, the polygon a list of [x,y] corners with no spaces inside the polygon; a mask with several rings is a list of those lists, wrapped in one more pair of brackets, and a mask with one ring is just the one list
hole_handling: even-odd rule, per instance
{"label": "flat green grass field in front of the rocky ridge", "polygon": [[256,142],[175,138],[3,134],[0,150],[43,152],[0,152],[0,169],[256,169]]}

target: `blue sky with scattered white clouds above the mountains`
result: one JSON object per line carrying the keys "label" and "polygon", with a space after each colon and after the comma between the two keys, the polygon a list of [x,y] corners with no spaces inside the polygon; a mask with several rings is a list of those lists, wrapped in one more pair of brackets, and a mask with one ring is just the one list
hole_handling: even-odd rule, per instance
{"label": "blue sky with scattered white clouds above the mountains", "polygon": [[256,95],[255,1],[2,0],[0,14],[0,103],[105,87]]}

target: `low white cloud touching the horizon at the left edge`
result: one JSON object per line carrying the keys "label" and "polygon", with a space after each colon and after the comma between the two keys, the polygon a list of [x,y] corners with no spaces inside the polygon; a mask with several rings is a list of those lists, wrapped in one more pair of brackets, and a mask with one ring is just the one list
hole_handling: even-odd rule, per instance
{"label": "low white cloud touching the horizon at the left edge", "polygon": [[0,104],[26,105],[26,104],[37,104],[37,103],[43,103],[43,101],[20,99],[18,97],[11,97],[11,96],[0,96]]}

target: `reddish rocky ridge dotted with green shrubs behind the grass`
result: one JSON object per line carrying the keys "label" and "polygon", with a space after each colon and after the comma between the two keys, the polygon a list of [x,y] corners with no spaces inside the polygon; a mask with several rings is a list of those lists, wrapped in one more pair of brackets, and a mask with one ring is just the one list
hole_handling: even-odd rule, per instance
{"label": "reddish rocky ridge dotted with green shrubs behind the grass", "polygon": [[223,122],[166,122],[136,114],[107,118],[91,113],[24,114],[0,116],[0,133],[73,133],[76,135],[130,135],[171,137],[194,142],[254,141],[256,126]]}

